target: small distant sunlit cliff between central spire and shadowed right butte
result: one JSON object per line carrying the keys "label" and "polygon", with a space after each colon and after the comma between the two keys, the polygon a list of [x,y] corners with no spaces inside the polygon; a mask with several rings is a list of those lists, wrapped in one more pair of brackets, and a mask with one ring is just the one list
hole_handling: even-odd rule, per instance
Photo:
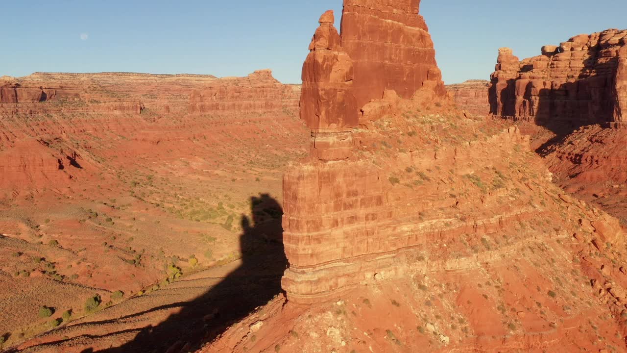
{"label": "small distant sunlit cliff between central spire and shadowed right butte", "polygon": [[487,116],[490,114],[487,80],[468,80],[461,84],[446,85],[446,92],[451,95],[455,105],[468,114]]}

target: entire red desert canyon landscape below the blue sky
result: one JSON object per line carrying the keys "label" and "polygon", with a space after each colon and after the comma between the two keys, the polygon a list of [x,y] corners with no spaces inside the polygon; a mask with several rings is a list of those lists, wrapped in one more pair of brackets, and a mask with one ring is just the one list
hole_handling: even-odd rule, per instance
{"label": "entire red desert canyon landscape below the blue sky", "polygon": [[627,30],[445,85],[343,5],[302,85],[0,77],[0,350],[627,352]]}

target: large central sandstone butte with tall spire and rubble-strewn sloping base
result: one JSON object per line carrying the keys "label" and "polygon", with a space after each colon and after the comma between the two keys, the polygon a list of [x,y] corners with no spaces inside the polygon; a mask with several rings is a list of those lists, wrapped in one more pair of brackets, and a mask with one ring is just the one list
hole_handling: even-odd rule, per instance
{"label": "large central sandstone butte with tall spire and rubble-strewn sloping base", "polygon": [[[618,220],[554,185],[509,121],[454,108],[418,5],[346,0],[339,41],[320,18],[300,100],[312,148],[283,179],[285,295],[201,352],[626,349]],[[401,42],[428,55],[383,54]],[[376,86],[359,80],[372,62]],[[434,80],[395,87],[401,64]]]}

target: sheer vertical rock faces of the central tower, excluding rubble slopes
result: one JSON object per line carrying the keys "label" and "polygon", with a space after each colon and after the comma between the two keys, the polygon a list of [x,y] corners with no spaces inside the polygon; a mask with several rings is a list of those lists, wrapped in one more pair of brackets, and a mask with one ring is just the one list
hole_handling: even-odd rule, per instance
{"label": "sheer vertical rock faces of the central tower, excluding rubble slopes", "polygon": [[290,166],[283,180],[290,261],[283,288],[293,300],[351,288],[371,271],[364,263],[417,240],[397,232],[403,227],[396,227],[396,202],[405,200],[389,200],[386,171],[354,155],[360,143],[354,128],[391,114],[398,95],[445,96],[418,6],[417,0],[346,0],[341,38],[332,11],[319,20],[300,99],[300,116],[312,131],[310,158]]}

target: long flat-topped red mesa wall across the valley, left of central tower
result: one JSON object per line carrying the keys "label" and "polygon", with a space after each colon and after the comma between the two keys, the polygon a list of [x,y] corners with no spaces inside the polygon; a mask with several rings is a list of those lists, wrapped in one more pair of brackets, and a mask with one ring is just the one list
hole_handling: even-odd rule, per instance
{"label": "long flat-topped red mesa wall across the valley, left of central tower", "polygon": [[[208,90],[213,91],[203,95]],[[189,114],[194,92],[211,99],[192,107],[216,117]],[[93,151],[115,150],[117,144],[132,145],[134,153],[126,157],[135,160],[169,142],[185,146],[202,139],[224,149],[226,136],[303,131],[296,117],[299,94],[300,85],[280,84],[270,70],[224,79],[114,72],[2,77],[0,198],[88,180],[103,168]]]}

